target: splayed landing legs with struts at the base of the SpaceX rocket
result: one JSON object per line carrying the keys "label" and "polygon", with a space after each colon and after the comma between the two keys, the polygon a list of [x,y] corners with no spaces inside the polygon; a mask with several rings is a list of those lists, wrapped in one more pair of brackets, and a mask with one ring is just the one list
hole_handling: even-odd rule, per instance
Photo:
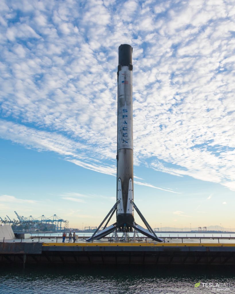
{"label": "splayed landing legs with struts at the base of the SpaceX rocket", "polygon": [[[115,203],[115,205],[112,207],[112,209],[110,210],[110,212],[108,213],[108,215],[104,218],[103,222],[98,226],[97,230],[93,233],[93,235],[86,239],[87,242],[93,241],[93,240],[99,240],[107,235],[109,235],[110,233],[115,232],[115,237],[117,238],[117,222],[108,226],[108,222],[111,219],[111,217],[113,216],[114,212],[117,209],[117,204],[119,203],[119,201],[117,201]],[[138,213],[138,215],[140,216],[141,220],[143,221],[143,223],[146,225],[146,228],[141,227],[140,225],[138,225],[137,223],[135,223],[135,221],[133,221],[132,223],[123,223],[123,225],[121,225],[123,229],[123,232],[126,233],[126,228],[130,227],[134,230],[136,230],[137,232],[145,235],[148,238],[151,238],[154,241],[157,242],[162,242],[163,240],[161,238],[158,238],[157,235],[155,234],[155,232],[153,231],[153,229],[150,227],[150,225],[147,223],[147,220],[144,218],[144,216],[142,215],[142,213],[140,212],[140,210],[137,208],[137,206],[135,205],[135,203],[132,201],[131,202],[133,207],[135,208],[136,212]],[[100,232],[98,232],[98,230],[101,228],[101,226],[103,225],[103,223],[105,222],[105,220],[108,219],[108,222],[105,224],[103,230],[101,230]],[[135,233],[134,233],[135,234]],[[116,239],[115,238],[115,239]]]}

